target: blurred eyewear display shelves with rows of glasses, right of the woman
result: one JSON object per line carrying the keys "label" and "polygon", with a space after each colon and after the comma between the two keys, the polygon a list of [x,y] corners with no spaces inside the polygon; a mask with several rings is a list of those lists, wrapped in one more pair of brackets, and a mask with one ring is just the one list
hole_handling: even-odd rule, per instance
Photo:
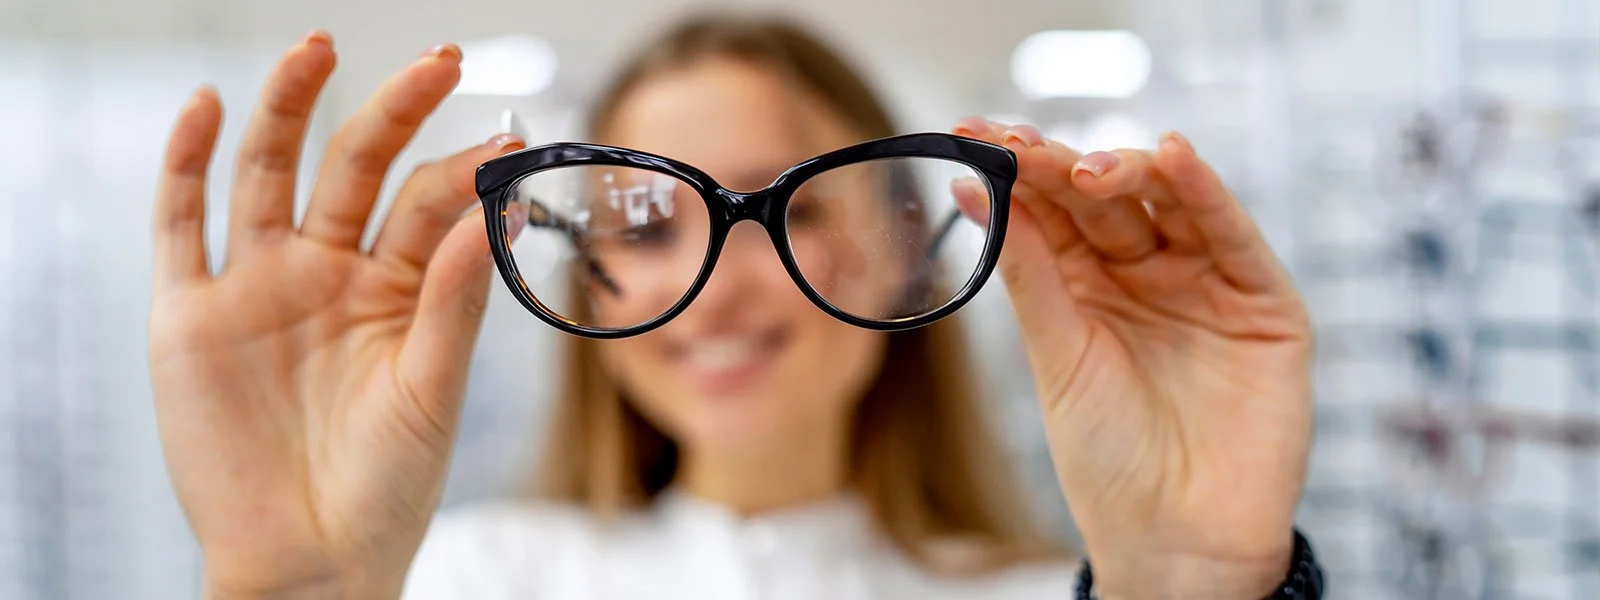
{"label": "blurred eyewear display shelves with rows of glasses, right of the woman", "polygon": [[1416,8],[1421,109],[1298,102],[1302,131],[1338,131],[1294,165],[1310,200],[1294,267],[1322,336],[1302,514],[1328,539],[1378,518],[1368,560],[1330,557],[1362,586],[1349,597],[1595,598],[1600,45],[1579,16],[1597,3],[1517,8],[1555,14],[1554,35],[1549,19],[1507,32],[1485,2]]}

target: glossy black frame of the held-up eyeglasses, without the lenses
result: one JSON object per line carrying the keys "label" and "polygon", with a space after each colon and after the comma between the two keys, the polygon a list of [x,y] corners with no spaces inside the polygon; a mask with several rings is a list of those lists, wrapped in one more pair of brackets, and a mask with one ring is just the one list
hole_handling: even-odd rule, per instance
{"label": "glossy black frame of the held-up eyeglasses, without the lenses", "polygon": [[[795,262],[789,243],[789,229],[786,224],[789,198],[802,184],[835,168],[880,158],[949,160],[971,168],[989,189],[989,227],[978,269],[950,301],[917,317],[874,320],[840,310],[805,280],[805,274]],[[512,259],[510,240],[506,237],[506,208],[512,202],[512,195],[522,179],[565,166],[629,166],[656,171],[686,182],[706,202],[706,213],[710,219],[710,240],[706,246],[706,258],[699,274],[694,277],[694,283],[690,285],[688,291],[670,309],[645,323],[626,328],[597,328],[562,317],[528,290]],[[859,328],[901,331],[926,326],[949,317],[971,301],[984,283],[987,283],[1000,259],[1000,248],[1005,242],[1011,187],[1016,184],[1016,154],[1010,149],[947,133],[912,133],[846,146],[790,166],[773,179],[771,184],[754,192],[730,190],[704,171],[658,154],[605,144],[555,142],[522,149],[485,162],[477,170],[477,192],[478,200],[483,203],[483,214],[493,216],[483,221],[486,222],[490,250],[494,254],[494,264],[499,269],[501,278],[523,307],[565,333],[594,339],[619,339],[643,334],[666,325],[688,309],[694,302],[694,298],[699,296],[706,282],[710,280],[718,256],[722,256],[722,246],[728,238],[728,232],[739,221],[755,221],[766,229],[766,235],[778,251],[784,270],[789,272],[789,278],[794,280],[795,286],[818,309]],[[958,214],[950,214],[938,227],[936,235],[942,238],[957,218]]]}

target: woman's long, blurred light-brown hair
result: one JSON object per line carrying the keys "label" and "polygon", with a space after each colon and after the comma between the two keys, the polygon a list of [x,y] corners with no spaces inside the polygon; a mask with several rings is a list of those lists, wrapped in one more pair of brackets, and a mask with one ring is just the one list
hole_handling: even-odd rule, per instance
{"label": "woman's long, blurred light-brown hair", "polygon": [[[643,80],[710,58],[774,69],[814,93],[861,139],[896,133],[866,82],[789,21],[704,14],[645,48],[595,104],[590,138],[605,138],[618,107]],[[678,448],[624,397],[595,344],[568,338],[563,387],[536,490],[614,515],[648,506],[670,485]],[[882,368],[856,406],[851,485],[880,530],[922,566],[986,573],[1067,558],[1034,522],[1006,453],[984,424],[965,347],[954,318],[888,333]],[[982,552],[968,557],[976,560],[949,563],[933,552],[944,539],[971,541]]]}

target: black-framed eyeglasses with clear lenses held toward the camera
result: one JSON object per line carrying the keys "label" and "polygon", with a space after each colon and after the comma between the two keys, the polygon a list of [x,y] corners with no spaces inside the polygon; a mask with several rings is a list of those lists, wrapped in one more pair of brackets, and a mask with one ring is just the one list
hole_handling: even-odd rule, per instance
{"label": "black-framed eyeglasses with clear lenses held toward the camera", "polygon": [[731,235],[739,221],[766,230],[818,309],[896,331],[954,314],[989,280],[1016,171],[1002,146],[917,133],[832,150],[736,192],[674,158],[562,142],[483,163],[477,190],[506,285],[562,331],[614,339],[666,325],[718,259],[744,269],[741,280],[782,277]]}

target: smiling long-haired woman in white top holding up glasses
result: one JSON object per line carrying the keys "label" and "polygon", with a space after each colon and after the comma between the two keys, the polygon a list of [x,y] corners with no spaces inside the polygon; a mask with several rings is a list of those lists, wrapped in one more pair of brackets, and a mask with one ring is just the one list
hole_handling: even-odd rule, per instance
{"label": "smiling long-haired woman in white top holding up glasses", "polygon": [[[893,133],[842,61],[781,22],[696,19],[650,48],[597,106],[595,141],[750,189]],[[459,77],[459,50],[437,46],[333,138],[296,227],[294,165],[333,56],[314,32],[270,75],[219,275],[202,243],[214,93],[168,147],[152,376],[210,594],[1070,594],[1074,565],[1003,493],[973,426],[952,322],[834,322],[747,226],[667,326],[573,341],[541,472],[565,502],[430,528],[493,270],[483,214],[456,216],[474,168],[523,141],[419,168],[360,248],[384,171]],[[1310,328],[1243,208],[1176,134],[1078,155],[1030,126],[955,133],[1019,158],[1000,272],[1096,594],[1269,595],[1291,571]]]}

